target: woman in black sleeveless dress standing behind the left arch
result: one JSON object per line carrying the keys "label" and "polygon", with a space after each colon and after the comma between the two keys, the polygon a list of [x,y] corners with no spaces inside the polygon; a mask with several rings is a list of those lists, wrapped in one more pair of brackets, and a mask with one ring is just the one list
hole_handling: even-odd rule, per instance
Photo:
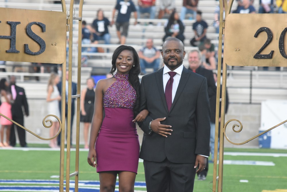
{"label": "woman in black sleeveless dress standing behind the left arch", "polygon": [[89,148],[88,135],[89,127],[94,114],[94,103],[95,103],[95,80],[93,78],[87,79],[87,88],[82,90],[81,93],[81,116],[80,121],[84,122],[84,142],[85,149]]}

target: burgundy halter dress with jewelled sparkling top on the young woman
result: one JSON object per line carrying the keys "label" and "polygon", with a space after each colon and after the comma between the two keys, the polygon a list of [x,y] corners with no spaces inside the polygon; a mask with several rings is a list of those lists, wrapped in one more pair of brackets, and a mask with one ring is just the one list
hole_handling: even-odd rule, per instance
{"label": "burgundy halter dress with jewelled sparkling top on the young woman", "polygon": [[130,171],[137,173],[140,145],[133,108],[136,91],[128,74],[115,74],[116,81],[104,94],[105,118],[97,137],[97,172]]}

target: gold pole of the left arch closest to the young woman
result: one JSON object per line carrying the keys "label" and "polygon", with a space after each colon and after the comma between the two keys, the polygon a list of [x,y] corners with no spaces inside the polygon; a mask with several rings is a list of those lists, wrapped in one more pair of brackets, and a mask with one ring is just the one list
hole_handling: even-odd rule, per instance
{"label": "gold pole of the left arch closest to the young woman", "polygon": [[[79,4],[79,18],[82,18],[83,1]],[[79,20],[78,30],[78,81],[77,81],[77,95],[81,93],[81,58],[82,58],[82,19]],[[80,144],[80,97],[77,97],[77,122],[76,122],[76,161],[75,161],[75,191],[78,191],[79,183],[79,144]]]}

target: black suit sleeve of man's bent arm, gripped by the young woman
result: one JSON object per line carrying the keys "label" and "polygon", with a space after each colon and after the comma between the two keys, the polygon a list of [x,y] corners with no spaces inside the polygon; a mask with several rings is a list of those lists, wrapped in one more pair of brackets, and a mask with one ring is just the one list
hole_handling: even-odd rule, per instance
{"label": "black suit sleeve of man's bent arm, gripped by the young woman", "polygon": [[[140,84],[140,111],[147,109],[147,97],[145,93],[145,86],[144,86],[144,77],[142,77],[142,81]],[[151,116],[147,116],[144,121],[138,122],[138,126],[142,129],[144,133],[150,135],[149,133],[149,122],[151,122],[153,118]]]}

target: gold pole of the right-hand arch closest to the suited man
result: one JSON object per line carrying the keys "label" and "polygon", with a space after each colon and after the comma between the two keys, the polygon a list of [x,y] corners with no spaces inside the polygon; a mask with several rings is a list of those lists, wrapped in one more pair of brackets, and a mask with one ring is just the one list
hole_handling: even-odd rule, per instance
{"label": "gold pole of the right-hand arch closest to the suited man", "polygon": [[219,41],[218,41],[218,63],[217,63],[217,90],[216,90],[216,112],[215,112],[215,137],[214,137],[214,158],[213,158],[213,184],[212,190],[216,191],[217,183],[217,153],[218,153],[218,126],[219,126],[219,105],[220,105],[220,78],[222,60],[222,35],[223,35],[223,1],[219,1]]}

